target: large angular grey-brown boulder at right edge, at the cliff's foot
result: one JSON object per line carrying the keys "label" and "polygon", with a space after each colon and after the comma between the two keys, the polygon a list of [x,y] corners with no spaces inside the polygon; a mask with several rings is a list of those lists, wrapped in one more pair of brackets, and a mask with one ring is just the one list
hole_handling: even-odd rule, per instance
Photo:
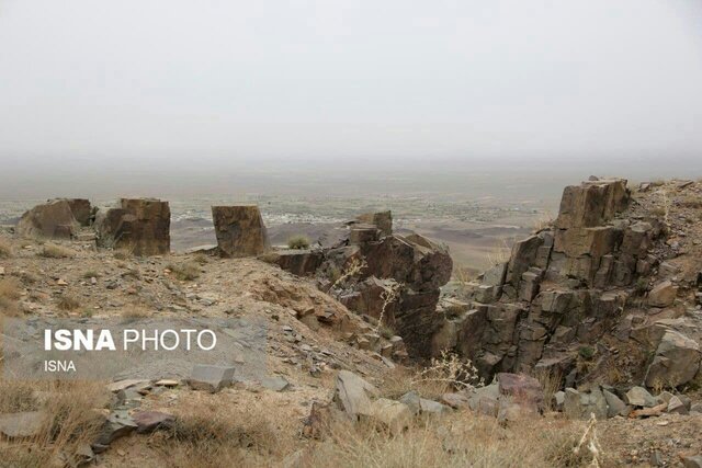
{"label": "large angular grey-brown boulder at right edge, at the cliff's foot", "polygon": [[700,345],[675,330],[667,330],[658,344],[654,361],[646,372],[646,386],[678,387],[694,378],[700,370]]}

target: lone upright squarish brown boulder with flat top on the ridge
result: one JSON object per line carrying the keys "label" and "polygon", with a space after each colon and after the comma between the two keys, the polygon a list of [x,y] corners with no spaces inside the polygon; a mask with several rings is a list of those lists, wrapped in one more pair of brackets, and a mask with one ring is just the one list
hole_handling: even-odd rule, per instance
{"label": "lone upright squarish brown boulder with flat top on the ridge", "polygon": [[260,255],[270,247],[258,206],[213,206],[212,219],[217,248],[224,258]]}

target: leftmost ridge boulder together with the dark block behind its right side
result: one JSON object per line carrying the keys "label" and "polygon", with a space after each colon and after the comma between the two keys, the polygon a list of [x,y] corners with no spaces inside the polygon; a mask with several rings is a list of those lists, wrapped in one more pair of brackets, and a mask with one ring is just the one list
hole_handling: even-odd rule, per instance
{"label": "leftmost ridge boulder together with the dark block behind its right side", "polygon": [[18,222],[16,232],[33,238],[70,239],[81,226],[90,224],[90,215],[88,199],[49,199],[24,213]]}

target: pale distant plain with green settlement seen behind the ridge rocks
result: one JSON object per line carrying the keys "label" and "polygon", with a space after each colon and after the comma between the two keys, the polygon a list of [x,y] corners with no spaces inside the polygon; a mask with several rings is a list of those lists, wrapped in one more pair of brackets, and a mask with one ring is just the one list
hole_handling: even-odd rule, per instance
{"label": "pale distant plain with green settlement seen behind the ridge rocks", "polygon": [[[170,198],[171,246],[174,251],[216,243],[212,205],[258,204],[269,228],[271,243],[284,246],[293,236],[331,246],[343,235],[346,220],[361,213],[392,209],[395,231],[415,231],[449,246],[456,265],[484,270],[490,258],[529,235],[547,218],[550,209],[537,199],[506,201],[484,196],[409,194],[406,196],[291,197],[247,196]],[[43,201],[0,202],[0,224],[15,224],[22,213]],[[98,201],[99,206],[109,204]]]}

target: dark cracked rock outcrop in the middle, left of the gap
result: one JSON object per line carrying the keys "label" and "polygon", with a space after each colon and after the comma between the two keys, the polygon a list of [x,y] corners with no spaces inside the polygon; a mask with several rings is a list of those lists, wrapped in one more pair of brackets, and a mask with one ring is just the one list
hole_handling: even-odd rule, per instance
{"label": "dark cracked rock outcrop in the middle, left of the gap", "polygon": [[374,343],[382,343],[378,333],[392,331],[411,356],[430,357],[432,335],[443,322],[437,312],[440,287],[449,282],[453,262],[445,247],[422,236],[393,235],[392,219],[389,212],[362,215],[348,224],[347,237],[332,248],[279,251],[262,259],[301,276],[316,276],[322,290],[373,319],[376,330],[359,336],[360,346],[375,350]]}

